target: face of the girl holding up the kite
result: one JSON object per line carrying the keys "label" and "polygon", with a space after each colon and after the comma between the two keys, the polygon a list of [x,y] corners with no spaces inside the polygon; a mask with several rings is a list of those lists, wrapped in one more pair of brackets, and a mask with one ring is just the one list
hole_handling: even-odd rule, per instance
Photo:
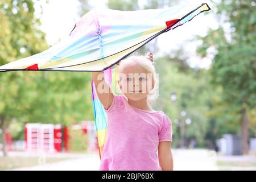
{"label": "face of the girl holding up the kite", "polygon": [[142,100],[152,89],[152,74],[139,65],[127,67],[119,73],[119,86],[125,96],[133,101]]}

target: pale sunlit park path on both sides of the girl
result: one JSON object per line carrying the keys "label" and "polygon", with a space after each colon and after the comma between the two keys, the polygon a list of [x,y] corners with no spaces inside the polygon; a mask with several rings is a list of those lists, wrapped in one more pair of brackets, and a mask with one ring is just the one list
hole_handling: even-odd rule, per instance
{"label": "pale sunlit park path on both sides of the girl", "polygon": [[[174,156],[174,170],[190,171],[190,170],[217,170],[216,153],[209,150],[172,150]],[[70,156],[72,154],[66,154]],[[61,154],[64,157],[65,154]],[[77,157],[74,159],[74,157]],[[61,162],[40,164],[38,166],[16,168],[14,170],[76,170],[76,171],[96,171],[100,166],[98,154],[73,155],[71,159]]]}

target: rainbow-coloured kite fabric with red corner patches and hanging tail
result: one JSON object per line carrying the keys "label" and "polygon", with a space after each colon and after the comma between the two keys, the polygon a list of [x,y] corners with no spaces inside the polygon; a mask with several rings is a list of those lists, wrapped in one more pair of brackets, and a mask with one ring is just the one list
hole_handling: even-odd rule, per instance
{"label": "rainbow-coloured kite fabric with red corner patches and hanging tail", "polygon": [[[209,10],[207,3],[139,11],[94,9],[82,16],[67,39],[46,51],[2,65],[0,71],[104,71],[105,81],[114,94],[119,94],[115,64],[160,34]],[[92,95],[101,158],[107,118],[93,81]]]}

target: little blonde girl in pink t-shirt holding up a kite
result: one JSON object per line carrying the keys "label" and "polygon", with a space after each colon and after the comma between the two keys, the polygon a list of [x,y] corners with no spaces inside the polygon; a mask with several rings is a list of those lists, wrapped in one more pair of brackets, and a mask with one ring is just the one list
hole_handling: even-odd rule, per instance
{"label": "little blonde girl in pink t-shirt holding up a kite", "polygon": [[148,104],[156,83],[152,53],[128,57],[118,65],[122,96],[112,93],[103,72],[92,72],[98,98],[108,115],[100,170],[172,170],[171,121]]}

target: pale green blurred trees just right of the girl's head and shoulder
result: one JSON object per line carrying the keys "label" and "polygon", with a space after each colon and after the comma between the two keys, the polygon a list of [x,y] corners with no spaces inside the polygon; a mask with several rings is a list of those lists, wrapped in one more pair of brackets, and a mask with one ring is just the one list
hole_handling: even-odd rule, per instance
{"label": "pale green blurred trees just right of the girl's head and shoulder", "polygon": [[[184,146],[184,139],[196,139],[204,144],[209,129],[209,74],[205,69],[190,68],[179,50],[156,59],[159,73],[159,98],[154,107],[163,110],[171,119],[175,146]],[[171,94],[176,100],[171,100]],[[185,111],[185,115],[181,115]],[[191,119],[191,123],[187,119]],[[187,122],[186,122],[187,120]],[[180,138],[181,137],[181,138]],[[180,140],[180,143],[177,141]]]}

